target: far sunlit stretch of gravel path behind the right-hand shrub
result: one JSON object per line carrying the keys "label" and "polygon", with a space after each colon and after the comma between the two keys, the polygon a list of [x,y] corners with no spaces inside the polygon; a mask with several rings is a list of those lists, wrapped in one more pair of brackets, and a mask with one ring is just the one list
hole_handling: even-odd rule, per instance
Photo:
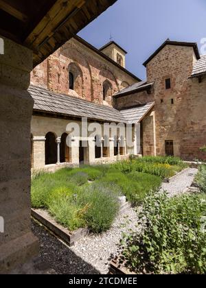
{"label": "far sunlit stretch of gravel path behind the right-hand shrub", "polygon": [[172,182],[163,183],[161,186],[161,191],[168,191],[170,197],[187,192],[197,172],[198,169],[195,168],[187,169],[181,175],[176,176],[176,179]]}

